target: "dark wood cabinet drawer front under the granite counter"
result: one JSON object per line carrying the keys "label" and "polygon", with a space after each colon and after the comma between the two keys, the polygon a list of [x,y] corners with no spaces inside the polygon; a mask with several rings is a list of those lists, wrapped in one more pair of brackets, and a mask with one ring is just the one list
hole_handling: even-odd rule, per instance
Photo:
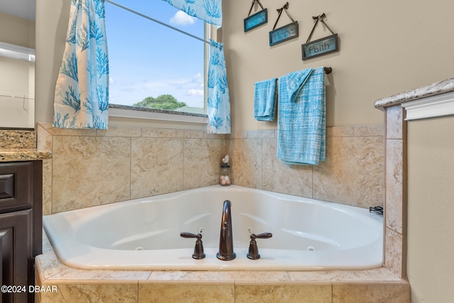
{"label": "dark wood cabinet drawer front under the granite counter", "polygon": [[0,164],[0,212],[33,204],[33,162]]}

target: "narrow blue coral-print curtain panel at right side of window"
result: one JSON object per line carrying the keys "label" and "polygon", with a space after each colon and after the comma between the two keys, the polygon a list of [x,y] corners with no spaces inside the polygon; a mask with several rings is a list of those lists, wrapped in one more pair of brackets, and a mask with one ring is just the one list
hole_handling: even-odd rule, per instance
{"label": "narrow blue coral-print curtain panel at right side of window", "polygon": [[210,39],[208,67],[208,133],[231,133],[226,60],[223,44]]}

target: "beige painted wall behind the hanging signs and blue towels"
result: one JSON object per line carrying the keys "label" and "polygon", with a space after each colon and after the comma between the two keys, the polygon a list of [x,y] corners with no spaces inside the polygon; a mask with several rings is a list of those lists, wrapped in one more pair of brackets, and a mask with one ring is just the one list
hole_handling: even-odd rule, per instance
{"label": "beige painted wall behind the hanging signs and blue towels", "polygon": [[[270,47],[268,33],[286,1],[260,1],[268,23],[244,33],[251,1],[223,1],[222,41],[232,101],[233,129],[273,129],[276,123],[253,118],[253,84],[308,67],[331,66],[326,88],[327,126],[383,123],[374,102],[382,97],[452,77],[454,1],[289,2],[299,22],[299,37]],[[260,7],[259,7],[260,9]],[[326,23],[340,39],[340,50],[301,60],[301,44],[314,26],[312,16],[326,13]],[[276,28],[290,19],[282,13]],[[319,24],[311,40],[331,35]]]}

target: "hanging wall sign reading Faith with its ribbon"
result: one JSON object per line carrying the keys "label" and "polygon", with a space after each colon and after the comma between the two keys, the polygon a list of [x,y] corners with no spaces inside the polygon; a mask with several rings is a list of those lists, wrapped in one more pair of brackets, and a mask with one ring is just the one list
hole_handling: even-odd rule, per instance
{"label": "hanging wall sign reading Faith with its ribbon", "polygon": [[[326,18],[325,13],[321,13],[319,16],[313,16],[312,18],[316,20],[314,27],[312,28],[312,31],[309,34],[309,38],[307,38],[306,43],[301,45],[301,53],[303,54],[303,60],[318,57],[321,55],[326,55],[328,53],[337,52],[339,50],[338,34],[333,33],[333,31],[331,31],[331,28],[329,28],[328,24],[326,24],[325,21],[323,21],[323,18]],[[326,28],[328,28],[328,30],[331,31],[333,35],[328,35],[325,38],[309,42],[319,21],[323,23],[326,26]]]}

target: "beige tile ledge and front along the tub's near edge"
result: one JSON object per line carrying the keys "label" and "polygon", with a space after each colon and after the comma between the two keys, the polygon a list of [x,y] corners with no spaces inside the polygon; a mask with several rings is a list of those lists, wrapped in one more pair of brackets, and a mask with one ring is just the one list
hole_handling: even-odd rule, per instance
{"label": "beige tile ledge and front along the tub's near edge", "polygon": [[[386,268],[319,272],[122,271],[69,268],[43,233],[36,302],[410,302],[410,285]],[[83,299],[81,299],[83,298]]]}

